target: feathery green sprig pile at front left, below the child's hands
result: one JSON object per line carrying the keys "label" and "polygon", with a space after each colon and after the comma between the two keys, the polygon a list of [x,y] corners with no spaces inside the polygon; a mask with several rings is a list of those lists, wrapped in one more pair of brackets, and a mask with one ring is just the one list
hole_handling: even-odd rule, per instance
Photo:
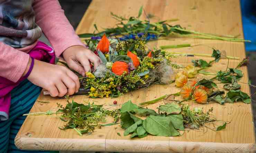
{"label": "feathery green sprig pile at front left, below the child's hands", "polygon": [[[120,111],[116,110],[106,110],[103,105],[95,105],[94,103],[88,105],[79,104],[72,100],[69,102],[67,97],[67,105],[64,107],[58,104],[60,108],[56,111],[56,114],[62,112],[63,114],[59,118],[67,122],[64,127],[59,127],[61,130],[74,129],[79,135],[93,132],[95,128],[100,128],[101,126],[114,125],[118,122],[120,117]],[[99,124],[99,122],[106,122],[106,118],[112,116],[114,122],[111,124]]]}

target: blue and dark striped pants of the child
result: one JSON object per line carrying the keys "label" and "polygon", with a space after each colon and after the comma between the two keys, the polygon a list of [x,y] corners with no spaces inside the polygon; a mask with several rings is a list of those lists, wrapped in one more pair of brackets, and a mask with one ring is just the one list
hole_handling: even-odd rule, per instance
{"label": "blue and dark striped pants of the child", "polygon": [[14,138],[26,119],[22,114],[29,113],[41,90],[42,88],[26,79],[11,91],[9,119],[0,121],[0,153],[42,153],[19,150],[14,145]]}

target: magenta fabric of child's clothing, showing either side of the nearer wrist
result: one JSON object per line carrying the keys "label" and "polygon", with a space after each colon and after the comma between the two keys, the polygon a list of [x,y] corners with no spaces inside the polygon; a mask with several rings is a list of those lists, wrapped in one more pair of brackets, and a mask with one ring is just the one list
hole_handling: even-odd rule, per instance
{"label": "magenta fabric of child's clothing, showing either side of the nearer wrist", "polygon": [[[55,53],[53,48],[43,42],[38,41],[36,46],[29,51],[28,54],[31,58],[36,60],[55,64]],[[33,64],[31,64],[31,66],[33,67]],[[11,103],[11,90],[25,79],[27,79],[27,77],[21,77],[17,82],[12,82],[0,76],[0,120],[8,119]],[[7,116],[1,116],[3,114],[6,114]]]}

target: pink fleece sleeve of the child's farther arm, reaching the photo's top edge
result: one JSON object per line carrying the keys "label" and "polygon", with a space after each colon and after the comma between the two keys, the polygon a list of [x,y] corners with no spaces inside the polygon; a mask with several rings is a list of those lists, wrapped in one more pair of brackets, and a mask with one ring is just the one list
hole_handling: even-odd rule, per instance
{"label": "pink fleece sleeve of the child's farther arm, reaching the photo's top edge", "polygon": [[52,44],[57,57],[71,46],[83,45],[58,0],[34,0],[33,9],[36,23]]}

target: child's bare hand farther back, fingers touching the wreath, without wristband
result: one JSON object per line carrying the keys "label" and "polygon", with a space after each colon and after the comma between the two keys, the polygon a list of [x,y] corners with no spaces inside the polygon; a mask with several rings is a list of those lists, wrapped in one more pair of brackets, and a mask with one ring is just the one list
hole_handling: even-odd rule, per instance
{"label": "child's bare hand farther back, fingers touching the wreath, without wristband", "polygon": [[[85,76],[85,72],[91,71],[90,62],[94,64],[94,70],[100,65],[100,58],[89,49],[80,45],[67,48],[62,55],[67,65],[83,76]],[[75,61],[81,63],[83,66],[77,64]]]}

